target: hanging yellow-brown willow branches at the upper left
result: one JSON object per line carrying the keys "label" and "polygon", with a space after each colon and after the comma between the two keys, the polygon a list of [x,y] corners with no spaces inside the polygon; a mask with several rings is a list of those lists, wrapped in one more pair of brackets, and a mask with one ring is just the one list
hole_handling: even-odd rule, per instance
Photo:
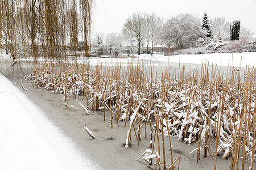
{"label": "hanging yellow-brown willow branches at the upper left", "polygon": [[[0,0],[1,47],[5,44],[6,52],[14,58],[29,55],[35,59],[37,56],[53,59],[65,57],[69,45],[77,50],[82,40],[88,56],[92,9],[93,0]],[[72,11],[71,32],[67,29],[69,10]]]}

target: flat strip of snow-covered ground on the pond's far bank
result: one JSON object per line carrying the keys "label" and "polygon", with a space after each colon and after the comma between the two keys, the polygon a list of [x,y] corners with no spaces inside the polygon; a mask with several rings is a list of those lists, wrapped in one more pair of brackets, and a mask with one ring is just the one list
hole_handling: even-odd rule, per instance
{"label": "flat strip of snow-covered ground on the pond's far bank", "polygon": [[[234,67],[246,67],[246,66],[256,66],[256,52],[245,52],[245,53],[213,53],[213,54],[187,54],[187,55],[177,55],[177,56],[163,56],[160,54],[141,54],[139,58],[135,58],[134,61],[145,60],[155,62],[155,64],[166,65],[163,62],[172,63],[193,63],[201,64],[208,63],[210,65],[218,66],[234,66]],[[92,65],[97,63],[103,64],[115,64],[115,63],[127,63],[131,62],[130,58],[92,58],[89,59]]]}

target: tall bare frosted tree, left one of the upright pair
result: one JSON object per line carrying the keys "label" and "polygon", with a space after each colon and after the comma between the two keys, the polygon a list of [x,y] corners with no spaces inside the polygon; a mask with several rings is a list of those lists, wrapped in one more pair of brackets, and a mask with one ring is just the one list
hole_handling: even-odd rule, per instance
{"label": "tall bare frosted tree, left one of the upright pair", "polygon": [[135,12],[123,25],[123,33],[138,42],[138,54],[141,54],[141,44],[147,37],[146,16],[144,12]]}

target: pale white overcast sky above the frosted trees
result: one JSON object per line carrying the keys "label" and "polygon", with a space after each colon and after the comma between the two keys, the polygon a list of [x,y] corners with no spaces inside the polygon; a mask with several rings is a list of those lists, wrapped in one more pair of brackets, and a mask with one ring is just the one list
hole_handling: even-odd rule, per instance
{"label": "pale white overcast sky above the frosted trees", "polygon": [[224,16],[228,22],[240,19],[241,25],[251,29],[256,37],[256,0],[96,0],[93,33],[121,32],[123,24],[133,12],[155,12],[164,20],[178,14],[193,14],[208,19]]}

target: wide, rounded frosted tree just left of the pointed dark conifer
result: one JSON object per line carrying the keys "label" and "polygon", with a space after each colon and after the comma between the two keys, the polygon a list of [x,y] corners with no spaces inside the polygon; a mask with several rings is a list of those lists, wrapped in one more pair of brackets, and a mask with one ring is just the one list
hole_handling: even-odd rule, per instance
{"label": "wide, rounded frosted tree just left of the pointed dark conifer", "polygon": [[182,49],[195,46],[197,40],[205,36],[205,31],[201,28],[199,18],[191,14],[180,14],[164,23],[158,36],[166,44],[174,43],[177,48]]}

